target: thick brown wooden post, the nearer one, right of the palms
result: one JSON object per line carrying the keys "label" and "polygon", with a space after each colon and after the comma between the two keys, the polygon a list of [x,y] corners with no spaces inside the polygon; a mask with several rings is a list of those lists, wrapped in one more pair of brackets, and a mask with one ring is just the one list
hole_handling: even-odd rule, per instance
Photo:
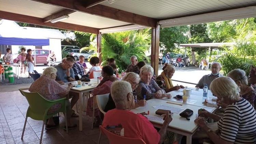
{"label": "thick brown wooden post, the nearer one, right of the palms", "polygon": [[151,66],[153,67],[156,76],[158,76],[159,36],[160,25],[157,24],[156,28],[152,28],[151,34]]}

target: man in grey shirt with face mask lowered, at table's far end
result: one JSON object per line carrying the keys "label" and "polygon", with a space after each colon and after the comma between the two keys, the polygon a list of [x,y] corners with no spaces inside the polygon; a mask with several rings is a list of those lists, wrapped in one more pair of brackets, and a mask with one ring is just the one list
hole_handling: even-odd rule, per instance
{"label": "man in grey shirt with face mask lowered, at table's far end", "polygon": [[221,63],[219,62],[213,62],[212,63],[212,73],[211,74],[207,74],[204,75],[199,82],[197,83],[196,87],[199,87],[200,89],[202,89],[204,87],[204,84],[207,84],[208,89],[210,88],[211,82],[217,78],[222,76],[221,74],[219,74],[219,71],[221,70]]}

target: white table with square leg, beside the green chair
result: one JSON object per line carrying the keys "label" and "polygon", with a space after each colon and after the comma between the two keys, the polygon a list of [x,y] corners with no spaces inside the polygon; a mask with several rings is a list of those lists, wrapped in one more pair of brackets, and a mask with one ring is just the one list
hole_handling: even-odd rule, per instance
{"label": "white table with square leg, beside the green chair", "polygon": [[[90,91],[93,91],[94,88],[97,86],[97,78],[93,78],[93,79],[90,79],[91,81],[90,82],[82,82],[82,83],[88,83],[88,84],[92,84],[93,86],[82,86],[82,87],[73,87],[70,91],[72,92],[75,92],[75,93],[78,93],[79,94],[79,131],[82,131],[83,130],[83,93],[86,93],[86,101],[85,103],[87,104],[87,101],[88,101],[88,92]],[[77,81],[74,81],[74,82],[77,82]],[[74,82],[71,82],[71,83],[74,83]],[[68,82],[70,83],[70,82]],[[68,83],[65,83],[65,84],[68,84]],[[86,106],[85,104],[85,106]]]}

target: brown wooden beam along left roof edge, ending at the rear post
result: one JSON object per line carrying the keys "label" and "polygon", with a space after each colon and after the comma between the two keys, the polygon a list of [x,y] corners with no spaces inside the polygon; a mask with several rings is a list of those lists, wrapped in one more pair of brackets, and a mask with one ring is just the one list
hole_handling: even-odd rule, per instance
{"label": "brown wooden beam along left roof edge, ending at the rear post", "polygon": [[44,25],[44,26],[49,26],[49,27],[59,28],[59,29],[67,29],[67,30],[99,34],[98,28],[92,28],[92,27],[88,27],[88,26],[77,25],[77,24],[66,23],[66,22],[44,23],[43,18],[9,13],[9,12],[4,12],[4,11],[0,11],[0,18],[13,20],[13,21],[19,21],[19,22],[26,22],[26,23],[31,23],[31,24],[37,24],[37,25]]}

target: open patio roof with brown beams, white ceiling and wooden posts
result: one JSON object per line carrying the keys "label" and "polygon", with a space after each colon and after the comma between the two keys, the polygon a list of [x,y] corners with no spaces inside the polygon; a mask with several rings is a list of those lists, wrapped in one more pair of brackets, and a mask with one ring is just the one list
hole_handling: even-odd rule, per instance
{"label": "open patio roof with brown beams, white ceiling and wooden posts", "polygon": [[255,17],[255,5],[256,0],[0,0],[0,18],[97,34],[100,58],[101,34],[152,28],[151,66],[157,74],[160,27]]}

